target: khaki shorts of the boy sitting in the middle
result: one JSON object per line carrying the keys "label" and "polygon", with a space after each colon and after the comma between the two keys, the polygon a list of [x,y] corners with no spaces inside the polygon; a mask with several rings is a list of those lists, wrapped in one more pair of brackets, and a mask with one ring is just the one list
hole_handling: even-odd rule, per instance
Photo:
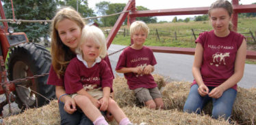
{"label": "khaki shorts of the boy sitting in the middle", "polygon": [[140,103],[144,103],[146,101],[150,101],[156,98],[162,98],[162,95],[157,87],[155,88],[136,88],[133,90],[136,94],[136,98],[140,101]]}

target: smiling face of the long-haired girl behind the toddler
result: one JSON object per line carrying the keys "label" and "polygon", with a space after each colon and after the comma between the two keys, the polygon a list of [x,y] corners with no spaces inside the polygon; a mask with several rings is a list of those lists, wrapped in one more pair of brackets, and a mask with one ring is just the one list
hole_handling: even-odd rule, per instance
{"label": "smiling face of the long-haired girl behind the toddler", "polygon": [[75,50],[81,37],[81,28],[72,20],[64,19],[57,24],[57,32],[64,45]]}

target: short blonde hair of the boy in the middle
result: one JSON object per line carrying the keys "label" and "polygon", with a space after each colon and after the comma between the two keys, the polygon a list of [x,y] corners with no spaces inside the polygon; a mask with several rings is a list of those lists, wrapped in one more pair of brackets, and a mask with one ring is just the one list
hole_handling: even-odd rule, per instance
{"label": "short blonde hair of the boy in the middle", "polygon": [[138,31],[143,31],[146,35],[149,35],[149,26],[143,21],[135,21],[130,26],[130,34],[133,35]]}

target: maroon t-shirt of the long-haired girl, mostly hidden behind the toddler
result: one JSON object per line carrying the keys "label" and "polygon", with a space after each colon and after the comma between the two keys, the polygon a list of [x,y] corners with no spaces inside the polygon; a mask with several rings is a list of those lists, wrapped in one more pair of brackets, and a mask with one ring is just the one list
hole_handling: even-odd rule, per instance
{"label": "maroon t-shirt of the long-haired girl, mostly hidden behind the toddler", "polygon": [[[107,65],[110,67],[111,75],[114,78],[114,73],[112,71],[111,64],[110,64],[110,58],[108,58],[108,56],[105,56],[105,58],[103,60],[105,60],[105,62],[107,62]],[[64,87],[64,76],[60,76],[60,78],[57,77],[57,74],[55,73],[52,65],[51,65],[51,68],[49,71],[49,77],[47,79],[47,84]]]}

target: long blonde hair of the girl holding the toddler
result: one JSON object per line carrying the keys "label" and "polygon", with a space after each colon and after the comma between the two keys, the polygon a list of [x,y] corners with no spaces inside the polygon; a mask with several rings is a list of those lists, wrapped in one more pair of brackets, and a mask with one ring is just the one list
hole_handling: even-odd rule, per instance
{"label": "long blonde hair of the girl holding the toddler", "polygon": [[72,20],[81,29],[85,25],[83,18],[72,7],[62,7],[53,18],[53,22],[51,22],[51,63],[55,73],[59,77],[60,75],[64,75],[69,61],[75,57],[74,52],[62,43],[57,32],[57,24],[64,19]]}

